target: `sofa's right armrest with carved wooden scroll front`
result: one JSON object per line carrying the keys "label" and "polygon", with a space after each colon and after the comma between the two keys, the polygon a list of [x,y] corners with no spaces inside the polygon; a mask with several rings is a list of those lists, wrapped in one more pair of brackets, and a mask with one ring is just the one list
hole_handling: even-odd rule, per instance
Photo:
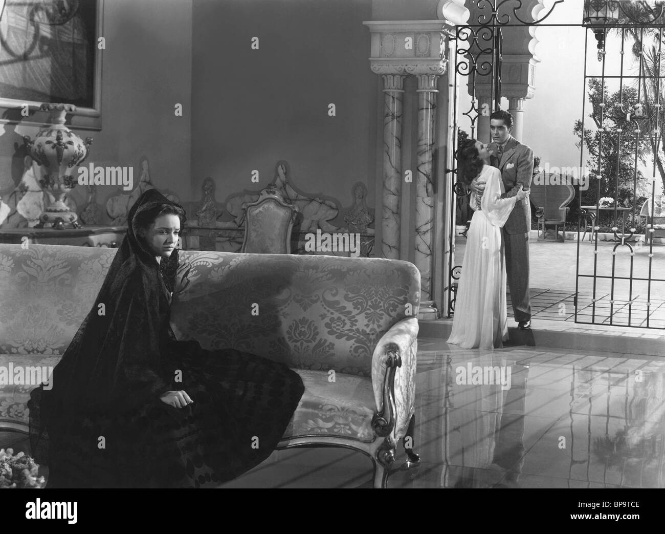
{"label": "sofa's right armrest with carved wooden scroll front", "polygon": [[372,355],[372,388],[376,415],[372,427],[380,436],[406,432],[414,413],[418,318],[407,317],[394,324],[376,344]]}

